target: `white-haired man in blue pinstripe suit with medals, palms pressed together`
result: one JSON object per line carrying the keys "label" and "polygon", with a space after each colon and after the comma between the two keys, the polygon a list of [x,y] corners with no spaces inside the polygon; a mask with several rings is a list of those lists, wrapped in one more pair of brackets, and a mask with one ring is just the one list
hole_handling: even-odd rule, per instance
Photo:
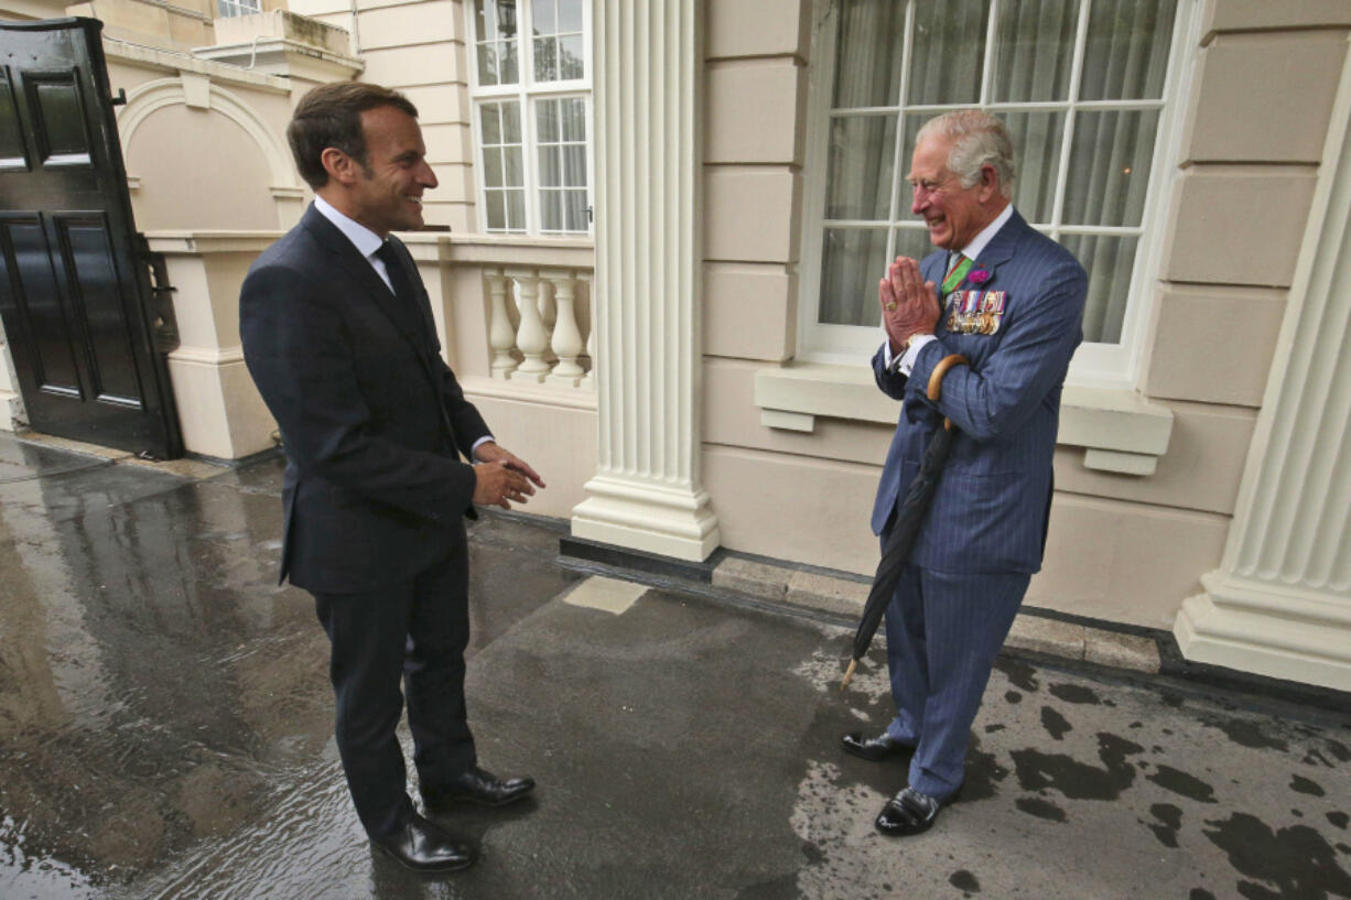
{"label": "white-haired man in blue pinstripe suit with medals, palms pressed together", "polygon": [[[932,826],[957,797],[971,723],[994,657],[1042,565],[1061,386],[1082,331],[1088,276],[1013,209],[1013,145],[981,111],[934,119],[916,136],[912,209],[938,253],[898,257],[880,285],[886,342],[878,386],[902,400],[873,530],[885,536],[943,418],[959,435],[901,582],[886,609],[897,715],[875,738],[844,735],[865,759],[909,757],[909,784],[877,828]],[[943,378],[950,354],[969,366]]]}

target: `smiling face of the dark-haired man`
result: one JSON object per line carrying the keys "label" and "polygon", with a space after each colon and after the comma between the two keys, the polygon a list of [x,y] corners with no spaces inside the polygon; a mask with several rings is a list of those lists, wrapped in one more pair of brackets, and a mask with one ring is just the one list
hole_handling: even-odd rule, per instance
{"label": "smiling face of the dark-haired man", "polygon": [[357,166],[353,219],[380,236],[423,226],[423,191],[436,186],[417,120],[394,107],[361,114],[366,168]]}

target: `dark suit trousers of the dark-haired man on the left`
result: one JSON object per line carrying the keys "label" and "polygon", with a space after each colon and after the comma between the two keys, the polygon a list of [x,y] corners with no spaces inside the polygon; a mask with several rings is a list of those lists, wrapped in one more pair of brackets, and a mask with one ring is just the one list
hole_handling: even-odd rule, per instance
{"label": "dark suit trousers of the dark-haired man on the left", "polygon": [[394,831],[412,812],[394,734],[405,695],[423,791],[442,788],[477,765],[465,712],[469,557],[463,527],[455,532],[450,554],[412,581],[315,595],[332,645],[338,753],[357,815],[372,836]]}

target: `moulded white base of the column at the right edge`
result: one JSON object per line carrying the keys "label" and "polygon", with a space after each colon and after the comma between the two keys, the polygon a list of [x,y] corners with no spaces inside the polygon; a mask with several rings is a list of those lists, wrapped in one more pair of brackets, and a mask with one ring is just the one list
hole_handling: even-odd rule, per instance
{"label": "moulded white base of the column at the right edge", "polygon": [[1351,691],[1351,599],[1221,570],[1201,584],[1173,623],[1186,659]]}

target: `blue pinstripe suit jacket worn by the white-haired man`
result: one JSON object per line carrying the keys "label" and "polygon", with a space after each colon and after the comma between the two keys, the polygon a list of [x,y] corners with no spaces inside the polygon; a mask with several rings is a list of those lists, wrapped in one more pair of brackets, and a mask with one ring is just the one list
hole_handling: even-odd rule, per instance
{"label": "blue pinstripe suit jacket worn by the white-haired man", "polygon": [[[943,281],[947,253],[920,264],[927,281]],[[940,299],[936,341],[917,354],[909,378],[873,358],[877,385],[902,400],[873,507],[881,534],[897,497],[919,472],[924,446],[943,416],[961,430],[939,481],[928,519],[911,555],[940,572],[1036,572],[1042,568],[1051,503],[1051,457],[1061,414],[1061,386],[1082,339],[1088,274],[1069,250],[1013,212],[975,259],[971,272],[989,278],[961,291],[1002,291],[1004,312],[993,334],[950,330],[950,304]],[[943,378],[943,396],[928,400],[938,362],[961,353],[970,368]]]}

